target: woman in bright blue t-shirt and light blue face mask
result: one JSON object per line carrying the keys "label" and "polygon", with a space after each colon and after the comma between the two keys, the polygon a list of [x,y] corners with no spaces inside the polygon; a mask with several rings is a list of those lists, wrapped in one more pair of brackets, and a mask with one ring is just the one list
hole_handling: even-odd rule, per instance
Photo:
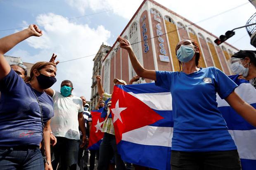
{"label": "woman in bright blue t-shirt and light blue face mask", "polygon": [[256,109],[234,92],[237,85],[218,68],[199,68],[197,42],[181,40],[177,44],[176,55],[182,71],[168,72],[146,70],[128,40],[119,37],[117,41],[128,51],[138,76],[154,80],[156,86],[171,92],[172,170],[240,170],[237,147],[217,108],[216,93],[253,126],[256,126]]}

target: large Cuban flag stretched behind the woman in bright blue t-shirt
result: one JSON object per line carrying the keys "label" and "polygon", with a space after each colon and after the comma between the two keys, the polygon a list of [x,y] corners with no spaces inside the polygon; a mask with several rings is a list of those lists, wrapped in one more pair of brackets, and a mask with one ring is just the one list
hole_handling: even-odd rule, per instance
{"label": "large Cuban flag stretched behind the woman in bright blue t-shirt", "polygon": [[[245,80],[231,79],[239,86],[238,95],[256,108],[256,89]],[[256,128],[239,116],[217,95],[234,139],[243,170],[256,167]],[[124,161],[158,170],[170,170],[173,136],[172,97],[154,83],[117,85],[112,95],[111,114],[119,154]]]}

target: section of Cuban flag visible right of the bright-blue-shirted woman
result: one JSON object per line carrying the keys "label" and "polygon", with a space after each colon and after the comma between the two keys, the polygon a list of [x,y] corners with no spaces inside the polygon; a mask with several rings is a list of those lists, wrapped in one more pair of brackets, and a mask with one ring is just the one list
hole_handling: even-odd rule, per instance
{"label": "section of Cuban flag visible right of the bright-blue-shirted woman", "polygon": [[[238,75],[229,76],[238,87],[235,92],[247,103],[256,108],[256,89]],[[232,136],[242,164],[242,170],[256,169],[256,128],[237,114],[225,100],[217,95],[218,109],[222,113]]]}

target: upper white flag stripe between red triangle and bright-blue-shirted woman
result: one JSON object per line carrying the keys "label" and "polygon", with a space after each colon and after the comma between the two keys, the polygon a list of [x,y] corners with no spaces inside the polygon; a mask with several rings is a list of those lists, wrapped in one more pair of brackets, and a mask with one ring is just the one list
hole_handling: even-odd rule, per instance
{"label": "upper white flag stripe between red triangle and bright-blue-shirted woman", "polygon": [[135,98],[141,100],[151,109],[155,110],[173,110],[171,92],[163,93],[133,93],[128,92]]}

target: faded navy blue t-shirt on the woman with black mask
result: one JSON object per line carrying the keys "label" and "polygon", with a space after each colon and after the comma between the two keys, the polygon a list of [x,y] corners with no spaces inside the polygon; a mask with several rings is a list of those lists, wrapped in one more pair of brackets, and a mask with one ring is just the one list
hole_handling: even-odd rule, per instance
{"label": "faded navy blue t-shirt on the woman with black mask", "polygon": [[53,116],[52,98],[45,92],[33,90],[12,69],[0,80],[0,91],[0,147],[39,146],[43,129],[35,94],[42,107],[44,123]]}

